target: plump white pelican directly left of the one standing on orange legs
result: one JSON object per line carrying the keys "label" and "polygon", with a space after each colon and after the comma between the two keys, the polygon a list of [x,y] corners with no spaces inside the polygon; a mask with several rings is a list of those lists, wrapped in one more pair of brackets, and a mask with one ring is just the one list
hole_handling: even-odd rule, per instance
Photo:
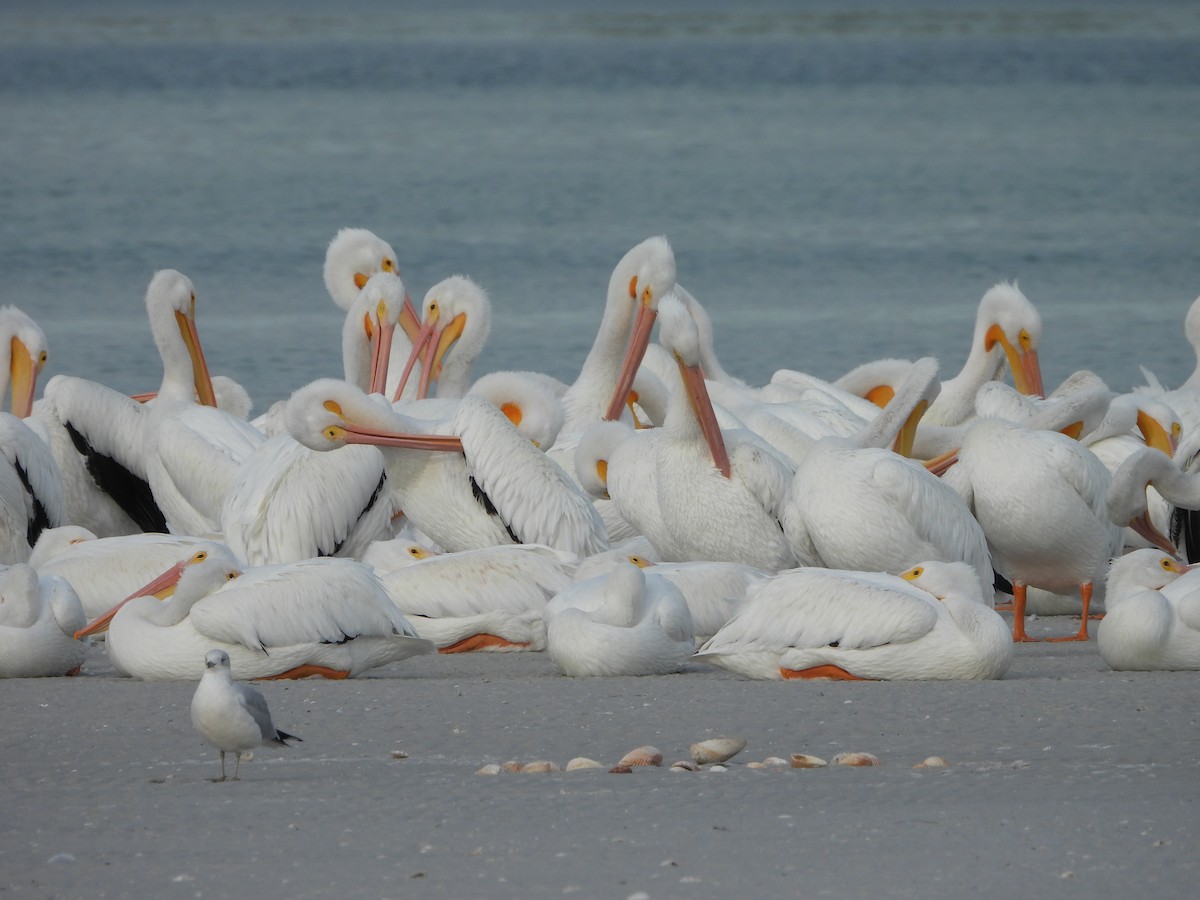
{"label": "plump white pelican directly left of the one standing on orange legs", "polygon": [[954,490],[892,449],[898,440],[907,449],[936,396],[937,361],[919,360],[856,438],[815,442],[796,467],[780,522],[802,565],[899,575],[922,559],[964,562],[990,606],[983,528]]}

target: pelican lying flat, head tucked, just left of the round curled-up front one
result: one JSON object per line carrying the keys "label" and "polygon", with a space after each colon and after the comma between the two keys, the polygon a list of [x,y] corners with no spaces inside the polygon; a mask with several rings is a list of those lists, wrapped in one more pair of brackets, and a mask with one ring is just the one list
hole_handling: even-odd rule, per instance
{"label": "pelican lying flat, head tucked, just left of the round curled-up front one", "polygon": [[572,582],[578,558],[538,544],[433,553],[395,540],[371,545],[362,562],[421,637],[461,653],[545,649],[546,601]]}

